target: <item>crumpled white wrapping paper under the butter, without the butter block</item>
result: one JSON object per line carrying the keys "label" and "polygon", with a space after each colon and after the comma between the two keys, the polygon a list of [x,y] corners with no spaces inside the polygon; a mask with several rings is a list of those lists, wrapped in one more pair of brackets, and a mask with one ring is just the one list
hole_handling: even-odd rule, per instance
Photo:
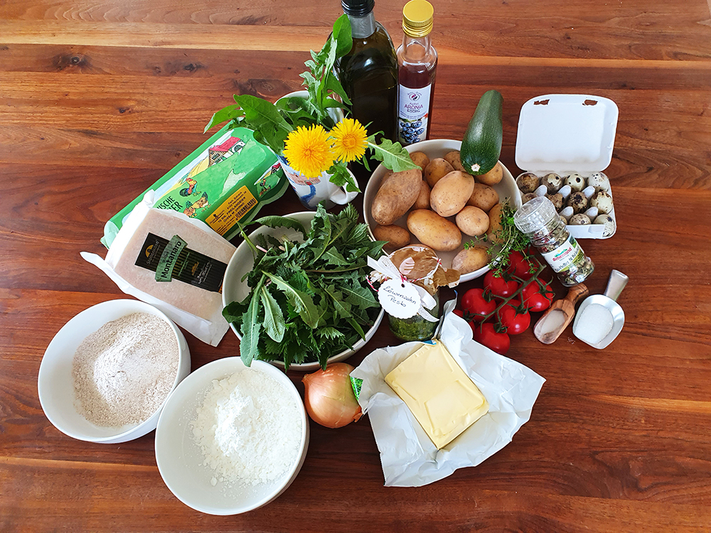
{"label": "crumpled white wrapping paper under the butter, without the butter block", "polygon": [[530,419],[545,382],[530,368],[472,340],[471,327],[454,313],[445,316],[439,340],[489,403],[488,413],[441,450],[385,383],[385,376],[421,342],[375,350],[351,372],[363,379],[358,403],[373,426],[386,487],[421,487],[493,456]]}

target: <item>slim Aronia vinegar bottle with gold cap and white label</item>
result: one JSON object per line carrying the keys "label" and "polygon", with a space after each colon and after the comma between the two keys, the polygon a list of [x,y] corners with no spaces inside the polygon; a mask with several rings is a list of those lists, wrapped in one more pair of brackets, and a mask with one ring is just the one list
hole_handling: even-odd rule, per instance
{"label": "slim Aronia vinegar bottle with gold cap and white label", "polygon": [[402,8],[402,45],[397,48],[397,140],[405,146],[429,139],[437,50],[429,39],[434,9],[427,0]]}

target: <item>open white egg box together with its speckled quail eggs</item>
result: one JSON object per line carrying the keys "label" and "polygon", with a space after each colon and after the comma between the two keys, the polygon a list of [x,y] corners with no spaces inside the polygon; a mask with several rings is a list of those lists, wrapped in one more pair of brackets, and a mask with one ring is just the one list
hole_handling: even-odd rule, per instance
{"label": "open white egg box together with its speckled quail eggs", "polygon": [[516,178],[521,201],[550,198],[576,239],[609,239],[617,230],[603,171],[612,160],[618,116],[615,102],[592,95],[543,95],[521,108],[516,137],[516,164],[524,171]]}

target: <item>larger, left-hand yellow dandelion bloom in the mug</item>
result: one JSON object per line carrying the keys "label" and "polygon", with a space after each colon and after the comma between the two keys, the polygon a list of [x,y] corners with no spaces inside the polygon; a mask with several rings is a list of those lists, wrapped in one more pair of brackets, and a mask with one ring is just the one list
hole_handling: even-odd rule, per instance
{"label": "larger, left-hand yellow dandelion bloom in the mug", "polygon": [[335,158],[328,131],[320,124],[309,128],[299,126],[284,141],[284,157],[289,166],[306,178],[321,176],[322,172],[331,168]]}

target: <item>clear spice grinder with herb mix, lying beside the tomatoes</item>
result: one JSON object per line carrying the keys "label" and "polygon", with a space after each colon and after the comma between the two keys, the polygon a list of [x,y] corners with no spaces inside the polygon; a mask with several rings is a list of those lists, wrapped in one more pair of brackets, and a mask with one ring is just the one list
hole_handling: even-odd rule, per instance
{"label": "clear spice grinder with herb mix, lying beside the tomatoes", "polygon": [[545,196],[523,204],[513,215],[513,222],[528,236],[564,286],[582,283],[592,274],[595,269],[592,259],[565,229],[565,222]]}

